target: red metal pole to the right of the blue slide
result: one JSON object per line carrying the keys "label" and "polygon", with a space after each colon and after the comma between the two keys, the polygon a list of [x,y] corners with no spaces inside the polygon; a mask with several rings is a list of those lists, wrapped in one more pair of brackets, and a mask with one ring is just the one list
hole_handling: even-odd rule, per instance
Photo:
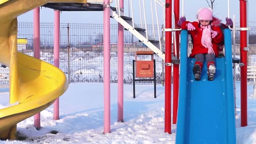
{"label": "red metal pole to the right of the blue slide", "polygon": [[[240,27],[247,27],[247,0],[240,0]],[[241,126],[247,126],[247,31],[240,31],[241,67]]]}

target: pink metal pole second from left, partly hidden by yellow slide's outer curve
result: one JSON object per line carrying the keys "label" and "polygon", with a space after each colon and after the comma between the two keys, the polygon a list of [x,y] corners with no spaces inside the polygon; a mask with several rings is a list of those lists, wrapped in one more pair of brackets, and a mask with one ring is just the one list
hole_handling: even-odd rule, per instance
{"label": "pink metal pole second from left, partly hidden by yellow slide's outer curve", "polygon": [[[54,66],[59,67],[59,23],[60,14],[59,11],[54,11]],[[54,101],[53,106],[53,119],[59,120],[59,98]]]}

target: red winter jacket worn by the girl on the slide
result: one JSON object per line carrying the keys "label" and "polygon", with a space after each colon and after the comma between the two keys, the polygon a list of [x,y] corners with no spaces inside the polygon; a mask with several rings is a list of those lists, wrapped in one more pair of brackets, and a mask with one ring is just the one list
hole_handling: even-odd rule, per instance
{"label": "red winter jacket worn by the girl on the slide", "polygon": [[[189,57],[194,57],[198,53],[208,53],[208,48],[205,48],[202,43],[201,43],[201,38],[203,34],[203,29],[199,27],[199,24],[197,21],[194,22],[189,22],[189,21],[184,21],[181,24],[181,29],[187,29],[187,24],[191,23],[193,26],[196,28],[193,31],[189,31],[189,34],[191,35],[191,38],[193,40],[193,48],[192,48],[192,53],[190,54]],[[215,53],[215,56],[218,56],[218,43],[221,43],[224,38],[223,34],[221,32],[221,28],[219,26],[211,26],[211,29],[213,31],[218,32],[218,35],[214,38],[212,38],[212,44],[213,44],[213,51]]]}

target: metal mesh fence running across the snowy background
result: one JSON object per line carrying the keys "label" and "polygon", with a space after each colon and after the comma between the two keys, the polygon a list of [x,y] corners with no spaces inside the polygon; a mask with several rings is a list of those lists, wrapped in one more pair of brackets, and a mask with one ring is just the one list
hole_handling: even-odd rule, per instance
{"label": "metal mesh fence running across the snowy background", "polygon": [[[67,54],[67,26],[66,23],[60,24],[60,69],[68,75],[68,54]],[[111,82],[117,83],[117,24],[110,26],[110,74]],[[156,26],[155,26],[156,28]],[[147,25],[148,34],[158,40],[157,30],[155,35],[153,25]],[[53,47],[54,47],[54,24],[40,24],[40,59],[53,64]],[[236,31],[235,45],[237,58],[240,55],[240,32]],[[163,34],[162,34],[163,35]],[[162,37],[160,34],[160,37]],[[18,51],[33,56],[33,23],[18,23],[18,39],[26,39],[26,44],[18,43]],[[69,45],[70,45],[70,83],[101,83],[103,82],[103,24],[69,24]],[[234,47],[234,45],[233,45]],[[249,31],[249,48],[248,65],[256,65],[256,27],[251,27]],[[136,51],[150,51],[146,45],[139,42],[130,32],[124,32],[124,83],[132,83],[132,60],[135,59]],[[162,83],[163,63],[162,59],[154,55],[156,61],[156,79],[157,83]],[[138,60],[150,60],[149,56],[139,56]],[[239,70],[239,66],[237,65]],[[239,71],[237,70],[240,80]],[[0,81],[8,83],[8,81]],[[136,82],[136,83],[152,83]]]}

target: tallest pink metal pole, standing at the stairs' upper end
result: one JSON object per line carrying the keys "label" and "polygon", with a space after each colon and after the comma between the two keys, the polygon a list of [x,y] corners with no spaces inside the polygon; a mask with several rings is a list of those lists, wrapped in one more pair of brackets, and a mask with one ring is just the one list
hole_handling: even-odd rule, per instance
{"label": "tallest pink metal pole, standing at the stairs' upper end", "polygon": [[110,133],[110,12],[109,0],[104,0],[104,133]]}

